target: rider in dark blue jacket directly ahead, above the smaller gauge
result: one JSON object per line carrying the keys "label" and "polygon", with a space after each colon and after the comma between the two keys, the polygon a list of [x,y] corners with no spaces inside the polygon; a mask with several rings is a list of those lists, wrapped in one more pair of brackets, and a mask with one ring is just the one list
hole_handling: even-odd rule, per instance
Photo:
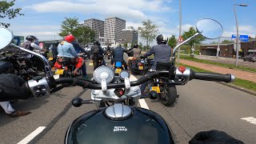
{"label": "rider in dark blue jacket directly ahead, above the smaller gauge", "polygon": [[129,54],[128,50],[123,49],[121,45],[115,48],[113,51],[113,58],[111,59],[111,65],[114,66],[114,62],[122,62],[122,65],[125,66],[125,70],[128,70],[126,62],[123,60],[124,53]]}

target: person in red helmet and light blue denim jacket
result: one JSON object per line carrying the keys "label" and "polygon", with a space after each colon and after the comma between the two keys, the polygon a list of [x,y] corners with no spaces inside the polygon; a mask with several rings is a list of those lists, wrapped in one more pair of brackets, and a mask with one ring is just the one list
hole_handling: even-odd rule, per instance
{"label": "person in red helmet and light blue denim jacket", "polygon": [[74,46],[71,44],[73,41],[74,36],[69,34],[65,37],[65,41],[58,44],[58,59],[64,58],[67,61],[75,62],[76,68],[74,70],[74,74],[78,74],[78,70],[83,65],[84,60],[78,57],[78,53],[74,50]]}

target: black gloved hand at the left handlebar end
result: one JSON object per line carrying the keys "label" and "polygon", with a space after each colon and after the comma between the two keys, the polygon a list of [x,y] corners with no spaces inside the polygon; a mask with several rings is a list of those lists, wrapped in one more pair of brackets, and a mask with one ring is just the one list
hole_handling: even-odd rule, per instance
{"label": "black gloved hand at the left handlebar end", "polygon": [[31,95],[22,88],[24,82],[14,74],[0,74],[0,102],[30,98]]}

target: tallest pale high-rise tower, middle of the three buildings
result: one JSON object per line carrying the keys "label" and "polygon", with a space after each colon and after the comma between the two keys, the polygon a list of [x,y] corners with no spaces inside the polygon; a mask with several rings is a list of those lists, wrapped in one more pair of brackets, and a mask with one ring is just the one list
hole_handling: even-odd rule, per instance
{"label": "tallest pale high-rise tower, middle of the three buildings", "polygon": [[122,30],[126,28],[126,21],[110,17],[105,19],[104,23],[104,38],[106,44],[114,44],[115,42],[122,43]]}

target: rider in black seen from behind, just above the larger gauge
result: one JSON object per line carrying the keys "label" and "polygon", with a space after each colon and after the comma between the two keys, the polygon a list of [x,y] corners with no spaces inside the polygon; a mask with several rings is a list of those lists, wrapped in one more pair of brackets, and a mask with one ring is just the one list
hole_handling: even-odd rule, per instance
{"label": "rider in black seen from behind, just above the larger gauge", "polygon": [[102,65],[105,65],[106,62],[104,60],[104,50],[102,49],[101,44],[98,41],[94,41],[94,46],[91,46],[90,57],[94,63],[94,70],[98,68],[97,62],[101,61]]}

